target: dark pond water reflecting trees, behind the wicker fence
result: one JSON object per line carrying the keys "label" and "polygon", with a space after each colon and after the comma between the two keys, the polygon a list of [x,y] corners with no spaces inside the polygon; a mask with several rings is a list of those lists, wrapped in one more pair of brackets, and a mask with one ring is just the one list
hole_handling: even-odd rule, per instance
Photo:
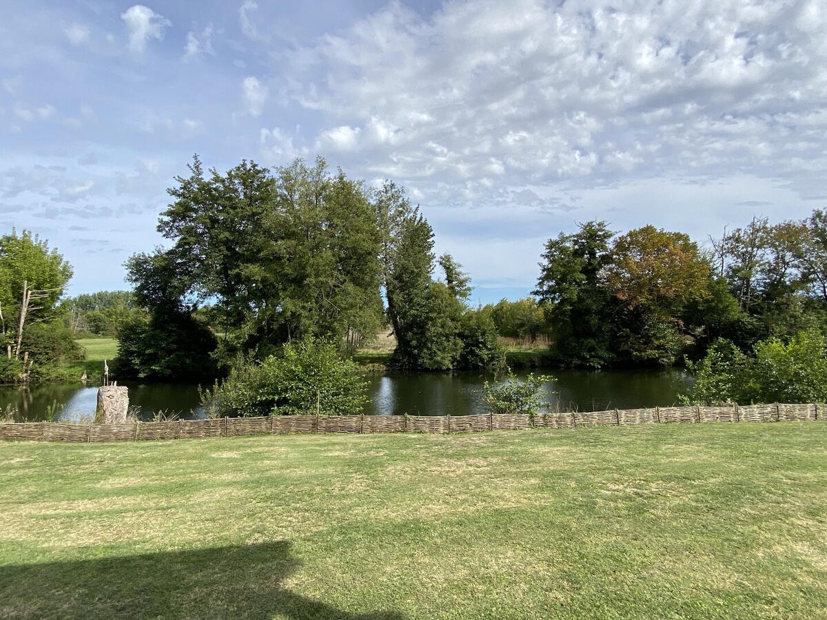
{"label": "dark pond water reflecting trees, behind the wicker fence", "polygon": [[[519,378],[528,371],[515,373]],[[592,411],[606,408],[667,407],[677,394],[691,386],[680,369],[664,370],[550,370],[552,383],[543,398],[563,410]],[[368,378],[370,403],[366,415],[465,415],[485,413],[482,401],[484,374],[385,374]],[[129,402],[140,408],[141,419],[159,411],[183,417],[201,417],[196,384],[130,384]],[[88,422],[93,416],[98,388],[79,384],[41,384],[22,389],[0,386],[0,412],[17,410],[18,420],[56,418]],[[59,409],[57,416],[52,415]]]}

